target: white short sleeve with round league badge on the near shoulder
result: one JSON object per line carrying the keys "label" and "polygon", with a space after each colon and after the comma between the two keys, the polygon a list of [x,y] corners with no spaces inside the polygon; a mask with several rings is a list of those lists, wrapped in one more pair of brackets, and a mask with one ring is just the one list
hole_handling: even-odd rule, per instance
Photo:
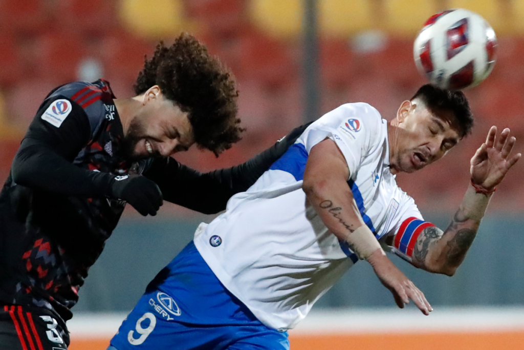
{"label": "white short sleeve with round league badge on the near shoulder", "polygon": [[329,137],[341,150],[350,174],[353,174],[358,172],[373,147],[381,146],[381,124],[380,113],[371,105],[346,103],[324,114],[310,126],[304,146],[309,154],[315,144]]}

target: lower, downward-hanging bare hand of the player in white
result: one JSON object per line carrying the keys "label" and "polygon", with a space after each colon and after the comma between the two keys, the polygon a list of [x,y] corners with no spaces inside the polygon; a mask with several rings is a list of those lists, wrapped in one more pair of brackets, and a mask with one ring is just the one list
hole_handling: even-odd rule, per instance
{"label": "lower, downward-hanging bare hand of the player in white", "polygon": [[377,249],[367,258],[367,261],[373,266],[380,282],[391,291],[400,309],[403,309],[405,304],[409,304],[411,299],[424,315],[429,315],[433,311],[424,293],[389,260],[382,249]]}

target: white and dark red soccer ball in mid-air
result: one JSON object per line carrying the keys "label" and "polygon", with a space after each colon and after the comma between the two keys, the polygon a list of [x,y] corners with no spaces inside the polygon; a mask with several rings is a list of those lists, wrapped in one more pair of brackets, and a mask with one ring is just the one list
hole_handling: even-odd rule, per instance
{"label": "white and dark red soccer ball in mid-air", "polygon": [[463,8],[431,16],[413,45],[419,72],[436,86],[459,90],[486,79],[495,64],[497,37],[480,15]]}

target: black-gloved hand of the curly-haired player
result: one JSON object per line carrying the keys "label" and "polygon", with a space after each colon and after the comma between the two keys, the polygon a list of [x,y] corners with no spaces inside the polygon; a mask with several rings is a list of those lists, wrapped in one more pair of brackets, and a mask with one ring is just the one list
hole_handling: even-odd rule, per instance
{"label": "black-gloved hand of the curly-haired player", "polygon": [[141,215],[157,215],[163,203],[158,185],[142,175],[117,176],[111,184],[112,197],[123,199]]}

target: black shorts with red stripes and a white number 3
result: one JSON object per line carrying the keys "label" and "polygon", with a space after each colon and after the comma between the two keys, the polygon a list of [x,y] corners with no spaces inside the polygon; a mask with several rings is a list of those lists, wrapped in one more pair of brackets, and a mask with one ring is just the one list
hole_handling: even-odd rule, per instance
{"label": "black shorts with red stripes and a white number 3", "polygon": [[47,309],[0,304],[0,344],[2,350],[64,350],[69,332]]}

